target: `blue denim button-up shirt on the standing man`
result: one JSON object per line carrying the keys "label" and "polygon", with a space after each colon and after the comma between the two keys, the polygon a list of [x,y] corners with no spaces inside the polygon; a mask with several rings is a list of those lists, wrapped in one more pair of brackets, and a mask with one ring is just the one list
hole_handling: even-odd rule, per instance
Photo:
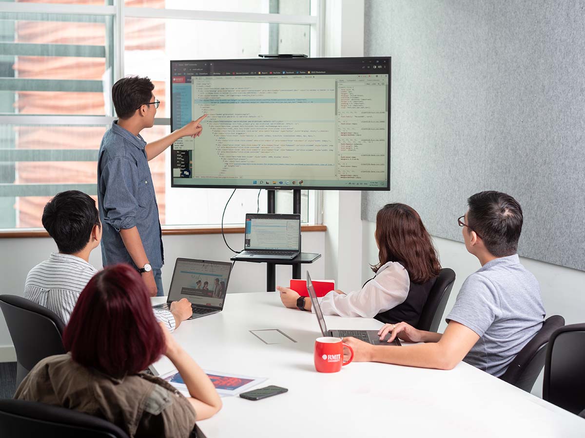
{"label": "blue denim button-up shirt on the standing man", "polygon": [[140,135],[136,137],[116,121],[102,138],[98,155],[98,209],[104,266],[115,263],[136,266],[120,235],[120,230],[132,227],[138,229],[153,269],[163,266],[159,207],[145,146]]}

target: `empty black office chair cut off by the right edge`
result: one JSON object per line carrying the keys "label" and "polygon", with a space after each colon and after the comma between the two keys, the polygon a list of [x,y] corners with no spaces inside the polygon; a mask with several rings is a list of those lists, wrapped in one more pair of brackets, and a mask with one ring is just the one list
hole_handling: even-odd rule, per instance
{"label": "empty black office chair cut off by the right edge", "polygon": [[550,336],[542,398],[579,414],[585,406],[585,324],[571,324]]}

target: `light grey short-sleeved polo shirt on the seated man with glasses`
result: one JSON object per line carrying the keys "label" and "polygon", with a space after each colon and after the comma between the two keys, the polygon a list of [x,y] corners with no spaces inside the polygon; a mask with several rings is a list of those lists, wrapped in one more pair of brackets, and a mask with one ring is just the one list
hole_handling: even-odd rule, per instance
{"label": "light grey short-sleeved polo shirt on the seated man with glasses", "polygon": [[480,336],[463,360],[500,377],[541,329],[545,313],[538,281],[512,255],[491,260],[467,277],[446,319]]}

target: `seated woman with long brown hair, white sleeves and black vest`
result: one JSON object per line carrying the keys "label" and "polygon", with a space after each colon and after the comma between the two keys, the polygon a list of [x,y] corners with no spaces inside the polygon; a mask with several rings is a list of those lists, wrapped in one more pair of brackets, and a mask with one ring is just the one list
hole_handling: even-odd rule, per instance
{"label": "seated woman with long brown hair, white sleeves and black vest", "polygon": [[[378,263],[371,269],[376,275],[359,291],[329,292],[319,301],[322,310],[326,315],[375,317],[416,326],[441,270],[431,236],[414,208],[394,203],[378,211],[374,237]],[[311,310],[310,300],[297,303],[302,301],[298,293],[280,286],[278,290],[286,307]]]}

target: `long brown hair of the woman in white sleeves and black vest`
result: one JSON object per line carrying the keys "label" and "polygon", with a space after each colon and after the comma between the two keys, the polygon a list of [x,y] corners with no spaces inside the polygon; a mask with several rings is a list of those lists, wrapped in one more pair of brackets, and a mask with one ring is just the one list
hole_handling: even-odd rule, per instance
{"label": "long brown hair of the woman in white sleeves and black vest", "polygon": [[400,262],[413,283],[425,283],[439,275],[441,263],[414,208],[406,204],[386,204],[376,215],[378,260],[372,270],[377,272],[388,262]]}

